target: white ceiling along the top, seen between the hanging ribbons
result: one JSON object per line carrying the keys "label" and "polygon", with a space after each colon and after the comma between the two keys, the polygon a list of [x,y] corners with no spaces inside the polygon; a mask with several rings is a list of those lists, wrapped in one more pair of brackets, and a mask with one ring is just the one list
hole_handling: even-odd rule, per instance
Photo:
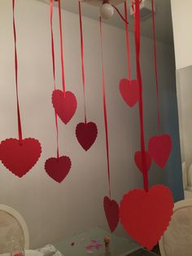
{"label": "white ceiling along the top, seen between the hanging ribbons", "polygon": [[[38,0],[49,3],[50,0]],[[113,0],[122,1],[122,0]],[[128,0],[129,3],[130,0]],[[56,3],[57,4],[57,3]],[[63,9],[78,13],[78,0],[61,0]],[[117,6],[124,14],[124,3]],[[155,0],[155,29],[156,38],[160,42],[173,44],[172,37],[172,15],[170,0]],[[82,14],[90,19],[98,20],[99,7],[94,7],[88,3],[82,3]],[[124,22],[120,16],[115,14],[110,20],[104,20],[107,24],[124,29]],[[129,19],[129,30],[133,31],[133,18]],[[147,38],[152,38],[152,20],[151,17],[142,20],[141,33]]]}

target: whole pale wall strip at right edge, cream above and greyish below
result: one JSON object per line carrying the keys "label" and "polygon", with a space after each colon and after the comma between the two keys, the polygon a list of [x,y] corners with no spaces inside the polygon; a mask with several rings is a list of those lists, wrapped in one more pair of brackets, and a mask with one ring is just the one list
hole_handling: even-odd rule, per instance
{"label": "whole pale wall strip at right edge, cream above and greyish below", "polygon": [[192,104],[190,99],[190,95],[192,95],[192,1],[171,0],[171,3],[173,36],[177,68],[177,102],[181,138],[181,157],[182,161],[186,162],[186,166],[188,169],[192,164]]}

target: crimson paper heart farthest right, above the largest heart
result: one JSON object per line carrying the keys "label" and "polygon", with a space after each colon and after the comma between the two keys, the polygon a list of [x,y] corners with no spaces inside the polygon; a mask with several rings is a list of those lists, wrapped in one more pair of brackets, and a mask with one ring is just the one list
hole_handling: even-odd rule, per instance
{"label": "crimson paper heart farthest right, above the largest heart", "polygon": [[164,168],[172,151],[172,139],[169,135],[151,137],[148,151],[155,163]]}

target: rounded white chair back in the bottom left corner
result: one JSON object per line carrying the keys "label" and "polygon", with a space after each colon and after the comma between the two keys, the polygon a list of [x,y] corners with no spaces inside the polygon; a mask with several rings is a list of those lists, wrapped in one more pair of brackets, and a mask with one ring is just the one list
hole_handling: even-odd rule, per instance
{"label": "rounded white chair back in the bottom left corner", "polygon": [[15,244],[28,249],[28,227],[16,210],[0,205],[0,254],[9,253]]}

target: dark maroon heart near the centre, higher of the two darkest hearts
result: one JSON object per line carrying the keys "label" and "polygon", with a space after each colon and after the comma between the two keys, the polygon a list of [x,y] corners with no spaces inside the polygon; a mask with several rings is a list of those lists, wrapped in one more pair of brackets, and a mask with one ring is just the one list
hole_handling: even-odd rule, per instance
{"label": "dark maroon heart near the centre, higher of the two darkest hearts", "polygon": [[87,151],[94,143],[98,135],[98,128],[92,121],[88,123],[80,122],[76,126],[76,139],[81,147]]}

